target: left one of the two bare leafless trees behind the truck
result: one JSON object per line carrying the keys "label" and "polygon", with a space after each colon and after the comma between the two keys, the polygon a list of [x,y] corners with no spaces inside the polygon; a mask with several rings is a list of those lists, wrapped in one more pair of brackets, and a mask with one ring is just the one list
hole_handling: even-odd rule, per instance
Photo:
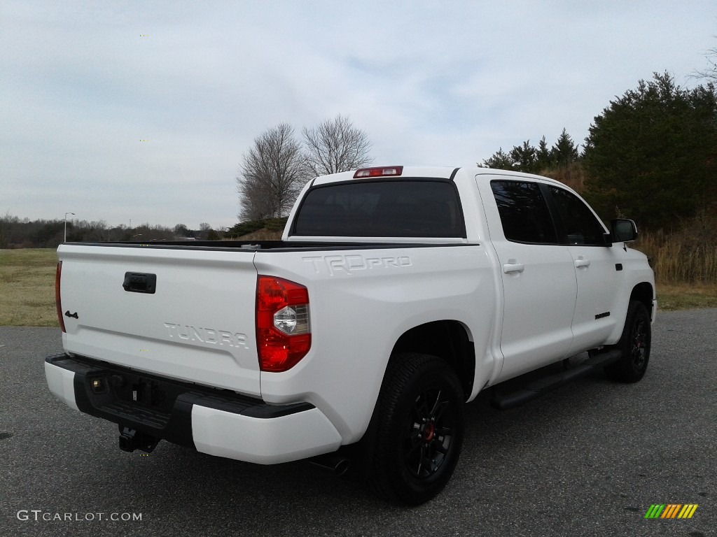
{"label": "left one of the two bare leafless trees behind the truck", "polygon": [[239,220],[285,216],[305,179],[301,145],[293,127],[281,123],[265,131],[254,139],[254,147],[244,153],[239,167]]}

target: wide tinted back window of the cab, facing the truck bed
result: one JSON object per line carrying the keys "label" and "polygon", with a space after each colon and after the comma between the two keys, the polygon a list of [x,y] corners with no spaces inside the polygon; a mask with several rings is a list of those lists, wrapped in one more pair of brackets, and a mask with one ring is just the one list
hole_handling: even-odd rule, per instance
{"label": "wide tinted back window of the cab, facing the truck bed", "polygon": [[465,237],[465,223],[452,182],[361,181],[309,190],[293,235]]}

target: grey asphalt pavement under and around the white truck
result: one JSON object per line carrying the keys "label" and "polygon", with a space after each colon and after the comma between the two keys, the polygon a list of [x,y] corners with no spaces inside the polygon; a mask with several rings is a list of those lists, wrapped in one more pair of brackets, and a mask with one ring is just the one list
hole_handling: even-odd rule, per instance
{"label": "grey asphalt pavement under and around the white truck", "polygon": [[[637,384],[597,372],[505,412],[482,395],[417,508],[306,463],[124,453],[116,425],[47,390],[61,351],[58,329],[0,327],[0,536],[717,535],[717,309],[660,313]],[[646,519],[653,504],[698,508]]]}

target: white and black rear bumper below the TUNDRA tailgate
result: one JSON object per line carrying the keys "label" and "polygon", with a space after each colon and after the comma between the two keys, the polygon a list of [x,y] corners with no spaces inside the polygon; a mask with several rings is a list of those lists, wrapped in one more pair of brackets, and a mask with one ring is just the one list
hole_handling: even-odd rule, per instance
{"label": "white and black rear bumper below the TUNDRA tailgate", "polygon": [[267,405],[67,354],[45,359],[45,377],[49,390],[75,410],[209,455],[275,464],[341,445],[328,418],[305,402]]}

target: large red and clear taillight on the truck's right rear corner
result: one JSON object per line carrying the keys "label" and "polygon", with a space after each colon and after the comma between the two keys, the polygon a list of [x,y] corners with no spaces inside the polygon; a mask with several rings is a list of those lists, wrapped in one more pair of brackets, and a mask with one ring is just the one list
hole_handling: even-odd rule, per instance
{"label": "large red and clear taillight on the truck's right rear corner", "polygon": [[294,367],[311,348],[308,290],[274,276],[257,279],[257,352],[262,371]]}

